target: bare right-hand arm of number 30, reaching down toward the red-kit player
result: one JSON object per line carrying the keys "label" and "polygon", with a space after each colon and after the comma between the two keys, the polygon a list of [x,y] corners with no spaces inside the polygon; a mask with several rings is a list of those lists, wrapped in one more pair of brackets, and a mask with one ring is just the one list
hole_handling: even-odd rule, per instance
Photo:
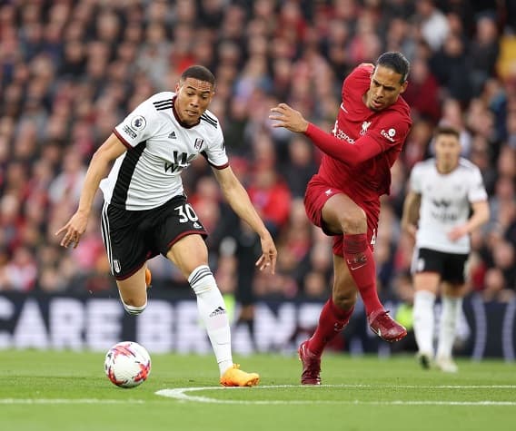
{"label": "bare right-hand arm of number 30, reaching down toward the red-kit player", "polygon": [[256,261],[256,266],[260,270],[269,268],[274,273],[278,252],[271,233],[265,228],[263,220],[254,209],[247,191],[230,167],[221,170],[213,168],[213,173],[233,211],[260,236],[262,256]]}

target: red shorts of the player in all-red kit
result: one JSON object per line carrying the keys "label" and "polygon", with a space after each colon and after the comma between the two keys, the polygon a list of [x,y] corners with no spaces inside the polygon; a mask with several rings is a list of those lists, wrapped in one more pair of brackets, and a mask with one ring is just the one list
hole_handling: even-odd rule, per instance
{"label": "red shorts of the player in all-red kit", "polygon": [[304,209],[306,215],[315,226],[323,229],[326,235],[333,237],[333,254],[343,256],[342,234],[334,234],[329,232],[323,221],[323,206],[334,194],[343,193],[352,199],[363,211],[367,217],[367,240],[369,247],[374,251],[374,243],[376,242],[376,233],[378,231],[378,218],[380,216],[380,200],[362,201],[360,196],[355,196],[351,189],[337,189],[320,179],[314,177],[308,182],[306,192],[304,194]]}

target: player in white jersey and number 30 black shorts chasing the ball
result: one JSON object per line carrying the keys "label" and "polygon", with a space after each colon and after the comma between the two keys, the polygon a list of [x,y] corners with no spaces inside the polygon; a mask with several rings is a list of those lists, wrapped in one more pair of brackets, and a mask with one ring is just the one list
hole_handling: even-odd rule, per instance
{"label": "player in white jersey and number 30 black shorts chasing the ball", "polygon": [[63,247],[77,246],[100,186],[104,246],[124,309],[134,315],[144,311],[150,279],[146,261],[164,255],[181,270],[196,295],[220,383],[246,387],[257,385],[260,377],[233,364],[228,316],[208,266],[203,240],[207,232],[186,200],[181,171],[203,155],[233,211],[260,237],[263,254],[256,266],[274,272],[277,251],[229,166],[220,122],[207,110],[214,91],[213,73],[194,65],[182,73],[175,93],[157,93],[138,105],[94,153],[78,210],[56,235],[64,233]]}

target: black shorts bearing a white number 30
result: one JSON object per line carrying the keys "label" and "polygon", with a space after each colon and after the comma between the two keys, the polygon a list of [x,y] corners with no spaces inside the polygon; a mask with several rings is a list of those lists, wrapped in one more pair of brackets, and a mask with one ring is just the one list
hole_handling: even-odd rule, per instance
{"label": "black shorts bearing a white number 30", "polygon": [[146,260],[166,256],[175,242],[186,235],[208,236],[184,195],[144,211],[127,211],[104,203],[102,237],[115,279],[127,279]]}

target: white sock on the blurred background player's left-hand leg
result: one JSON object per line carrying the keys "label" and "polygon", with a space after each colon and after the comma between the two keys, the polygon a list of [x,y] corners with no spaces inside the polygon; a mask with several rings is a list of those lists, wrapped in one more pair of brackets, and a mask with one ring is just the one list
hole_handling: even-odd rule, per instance
{"label": "white sock on the blurred background player's left-hand leg", "polygon": [[416,290],[414,293],[414,336],[419,351],[433,355],[433,304],[435,295],[428,290]]}

